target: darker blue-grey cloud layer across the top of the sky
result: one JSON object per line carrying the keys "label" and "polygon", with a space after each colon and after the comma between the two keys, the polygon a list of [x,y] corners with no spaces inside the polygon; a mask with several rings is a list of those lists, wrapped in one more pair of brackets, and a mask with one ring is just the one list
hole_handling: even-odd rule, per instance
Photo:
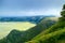
{"label": "darker blue-grey cloud layer across the top of the sky", "polygon": [[64,0],[2,0],[2,8],[12,10],[39,10],[48,8],[61,8]]}

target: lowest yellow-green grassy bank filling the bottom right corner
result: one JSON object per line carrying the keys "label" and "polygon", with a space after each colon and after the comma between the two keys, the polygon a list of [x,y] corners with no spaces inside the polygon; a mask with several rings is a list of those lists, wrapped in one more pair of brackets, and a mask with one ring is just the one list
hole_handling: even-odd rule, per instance
{"label": "lowest yellow-green grassy bank filling the bottom right corner", "polygon": [[64,43],[65,42],[65,28],[44,34],[37,40],[31,40],[28,43]]}

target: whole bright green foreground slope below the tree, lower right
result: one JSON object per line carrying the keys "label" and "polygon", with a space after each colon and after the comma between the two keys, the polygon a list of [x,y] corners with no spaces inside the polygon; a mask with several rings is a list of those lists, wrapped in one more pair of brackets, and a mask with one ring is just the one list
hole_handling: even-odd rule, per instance
{"label": "whole bright green foreground slope below the tree, lower right", "polygon": [[27,43],[64,43],[65,22],[58,22]]}

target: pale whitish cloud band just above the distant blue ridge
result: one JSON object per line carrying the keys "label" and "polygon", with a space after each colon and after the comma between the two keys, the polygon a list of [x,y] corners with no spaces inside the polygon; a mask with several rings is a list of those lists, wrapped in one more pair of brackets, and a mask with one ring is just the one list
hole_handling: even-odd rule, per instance
{"label": "pale whitish cloud band just above the distant blue ridge", "polygon": [[[55,15],[60,16],[60,9],[49,9],[49,10],[42,10],[42,11],[6,11],[6,12],[0,12],[0,14],[4,16],[34,16],[34,15]],[[2,16],[1,15],[1,16]]]}

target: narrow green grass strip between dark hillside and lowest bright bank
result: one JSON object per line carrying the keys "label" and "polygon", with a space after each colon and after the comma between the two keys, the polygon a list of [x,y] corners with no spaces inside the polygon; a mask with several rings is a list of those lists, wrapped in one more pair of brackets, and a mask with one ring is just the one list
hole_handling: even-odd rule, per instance
{"label": "narrow green grass strip between dark hillside and lowest bright bank", "polygon": [[60,30],[60,29],[62,29],[64,26],[65,26],[65,22],[63,22],[63,23],[57,23],[57,24],[53,25],[51,28],[42,31],[40,34],[38,34],[37,37],[35,37],[32,40],[38,39],[38,38],[41,37],[41,35],[44,35],[44,34],[54,32],[54,31],[56,31],[56,30]]}

